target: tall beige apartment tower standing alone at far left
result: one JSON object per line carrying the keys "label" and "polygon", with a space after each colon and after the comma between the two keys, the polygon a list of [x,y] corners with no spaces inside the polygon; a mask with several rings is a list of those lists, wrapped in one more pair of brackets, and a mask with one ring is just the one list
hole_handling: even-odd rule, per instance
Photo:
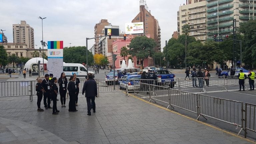
{"label": "tall beige apartment tower standing alone at far left", "polygon": [[28,48],[34,48],[34,29],[26,23],[13,24],[13,43],[26,43]]}

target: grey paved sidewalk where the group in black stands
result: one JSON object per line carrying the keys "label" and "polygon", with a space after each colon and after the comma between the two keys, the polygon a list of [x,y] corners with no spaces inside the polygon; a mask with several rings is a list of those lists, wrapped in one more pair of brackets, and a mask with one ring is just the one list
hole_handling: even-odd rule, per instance
{"label": "grey paved sidewalk where the group in black stands", "polygon": [[[100,93],[100,97],[96,98],[96,113],[91,116],[87,115],[86,99],[81,94],[78,112],[68,112],[68,106],[61,108],[60,101],[57,101],[57,108],[60,110],[58,115],[52,115],[52,109],[37,112],[36,100],[36,96],[32,102],[27,96],[0,98],[0,143],[4,139],[3,144],[20,144],[19,138],[22,135],[35,137],[35,141],[31,142],[33,144],[255,143],[136,97],[127,97],[123,92]],[[68,102],[67,99],[67,105]],[[19,122],[25,126],[8,126]],[[25,132],[17,135],[16,128]],[[12,136],[6,136],[7,133]],[[41,138],[37,139],[39,135]]]}

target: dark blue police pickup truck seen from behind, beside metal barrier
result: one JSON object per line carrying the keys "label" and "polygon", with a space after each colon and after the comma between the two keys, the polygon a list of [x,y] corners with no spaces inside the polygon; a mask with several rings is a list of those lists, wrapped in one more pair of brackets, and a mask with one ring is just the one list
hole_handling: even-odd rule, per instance
{"label": "dark blue police pickup truck seen from behind, beside metal barrier", "polygon": [[155,70],[157,80],[157,85],[168,85],[170,88],[173,88],[176,84],[175,74],[171,73],[168,70]]}

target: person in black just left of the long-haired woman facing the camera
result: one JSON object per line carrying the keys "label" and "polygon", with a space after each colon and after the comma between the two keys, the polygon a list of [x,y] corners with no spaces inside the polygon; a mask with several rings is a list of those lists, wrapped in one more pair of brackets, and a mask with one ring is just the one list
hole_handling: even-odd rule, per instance
{"label": "person in black just left of the long-haired woman facing the camera", "polygon": [[57,94],[58,94],[58,86],[56,85],[56,83],[58,82],[57,78],[54,77],[52,78],[52,83],[50,85],[50,95],[52,98],[52,114],[59,114],[58,112],[60,112],[59,110],[57,110]]}

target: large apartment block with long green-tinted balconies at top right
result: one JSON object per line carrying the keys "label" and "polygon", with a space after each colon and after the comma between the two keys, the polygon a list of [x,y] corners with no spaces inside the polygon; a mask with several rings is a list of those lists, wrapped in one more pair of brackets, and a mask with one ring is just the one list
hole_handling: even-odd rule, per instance
{"label": "large apartment block with long green-tinted balconies at top right", "polygon": [[233,33],[233,20],[236,27],[248,20],[256,19],[256,1],[252,0],[207,0],[207,40],[213,35],[218,38]]}

